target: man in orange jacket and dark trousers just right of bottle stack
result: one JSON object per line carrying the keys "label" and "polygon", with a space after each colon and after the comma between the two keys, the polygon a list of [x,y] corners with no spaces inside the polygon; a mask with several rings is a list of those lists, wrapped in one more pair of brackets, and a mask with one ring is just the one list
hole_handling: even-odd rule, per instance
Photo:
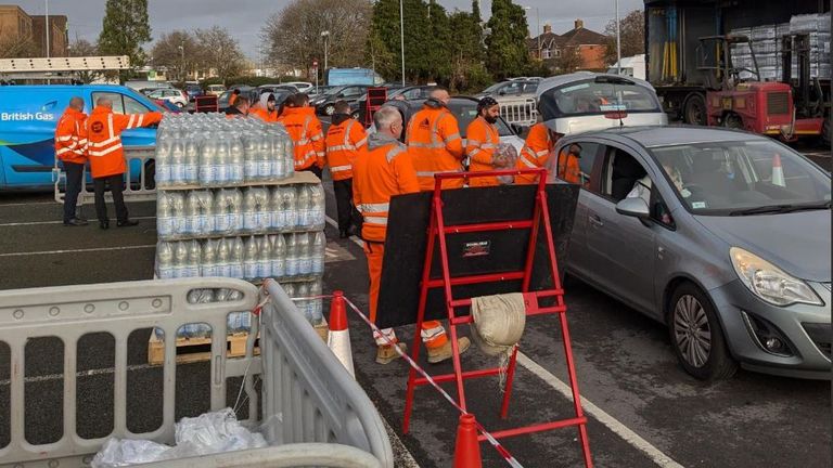
{"label": "man in orange jacket and dark trousers just right of bottle stack", "polygon": [[338,213],[338,236],[347,238],[358,233],[359,220],[353,205],[353,161],[368,143],[364,127],[350,116],[350,104],[336,101],[332,122],[326,130],[326,156]]}

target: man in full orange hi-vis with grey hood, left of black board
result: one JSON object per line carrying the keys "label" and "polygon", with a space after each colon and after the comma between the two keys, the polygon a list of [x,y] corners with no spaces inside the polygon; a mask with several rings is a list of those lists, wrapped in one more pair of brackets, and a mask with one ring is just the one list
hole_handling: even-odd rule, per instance
{"label": "man in full orange hi-vis with grey hood, left of black board", "polygon": [[[375,323],[390,198],[419,192],[420,185],[410,150],[399,143],[402,133],[402,117],[399,110],[382,106],[373,115],[373,121],[376,132],[368,136],[367,147],[353,164],[353,198],[363,218],[361,238],[364,240],[364,255],[368,257],[370,273],[370,320]],[[451,342],[439,321],[424,322],[420,334],[428,350],[430,363],[451,358]],[[398,356],[389,342],[405,350],[405,343],[398,342],[393,328],[385,328],[379,335],[374,334],[374,339],[379,347],[376,362],[380,364],[387,364]],[[469,349],[469,338],[460,338],[458,344],[462,353]]]}

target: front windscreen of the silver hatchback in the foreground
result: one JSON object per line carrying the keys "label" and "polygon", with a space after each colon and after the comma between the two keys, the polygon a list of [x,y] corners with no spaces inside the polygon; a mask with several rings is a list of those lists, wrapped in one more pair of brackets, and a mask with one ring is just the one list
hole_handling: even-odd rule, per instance
{"label": "front windscreen of the silver hatchback in the foreground", "polygon": [[773,141],[650,150],[695,214],[744,216],[830,207],[830,176]]}

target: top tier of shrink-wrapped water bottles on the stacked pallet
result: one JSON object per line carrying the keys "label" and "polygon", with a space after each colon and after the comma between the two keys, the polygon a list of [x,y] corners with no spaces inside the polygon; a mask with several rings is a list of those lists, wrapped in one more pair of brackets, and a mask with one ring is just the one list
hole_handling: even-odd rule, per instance
{"label": "top tier of shrink-wrapped water bottles on the stacked pallet", "polygon": [[272,183],[295,173],[292,139],[282,125],[220,114],[174,114],[159,123],[157,187]]}

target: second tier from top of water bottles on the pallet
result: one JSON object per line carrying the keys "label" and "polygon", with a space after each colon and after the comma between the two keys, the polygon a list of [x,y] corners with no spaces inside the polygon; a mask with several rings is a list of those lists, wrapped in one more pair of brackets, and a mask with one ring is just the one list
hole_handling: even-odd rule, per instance
{"label": "second tier from top of water bottles on the pallet", "polygon": [[320,183],[163,190],[156,229],[163,240],[322,231],[324,191]]}

